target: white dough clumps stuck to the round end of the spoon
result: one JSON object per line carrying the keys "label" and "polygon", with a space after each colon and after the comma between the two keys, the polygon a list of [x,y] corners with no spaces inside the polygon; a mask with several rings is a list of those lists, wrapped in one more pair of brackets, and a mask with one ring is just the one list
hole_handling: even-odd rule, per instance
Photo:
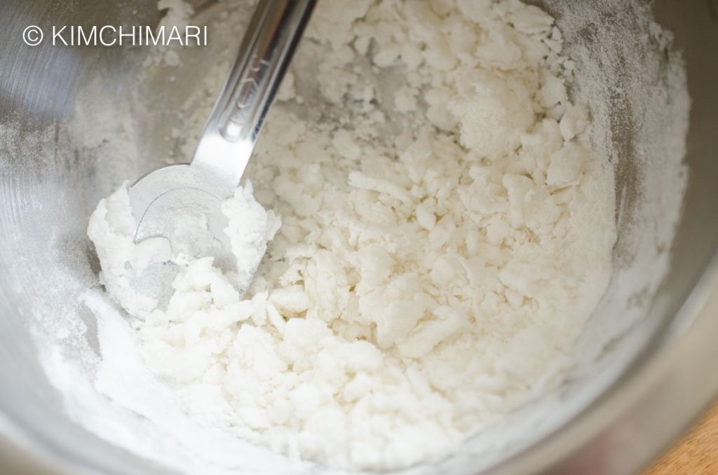
{"label": "white dough clumps stuck to the round end of the spoon", "polygon": [[[129,183],[125,182],[111,196],[101,199],[90,216],[88,236],[95,244],[102,264],[101,283],[123,309],[141,319],[148,318],[153,312],[156,313],[159,307],[157,298],[154,298],[151,292],[143,292],[135,281],[149,265],[172,262],[180,267],[180,276],[172,284],[174,299],[169,302],[170,306],[183,305],[180,302],[181,297],[177,296],[177,284],[187,273],[192,273],[194,278],[198,278],[196,273],[199,271],[214,272],[223,276],[222,283],[217,283],[210,277],[206,277],[205,280],[213,281],[215,290],[219,286],[225,286],[236,299],[240,296],[238,289],[244,291],[251,285],[254,273],[266,253],[267,242],[281,227],[279,217],[276,217],[274,212],[265,210],[254,199],[250,181],[247,181],[244,187],[238,187],[234,196],[222,203],[222,212],[228,217],[225,232],[230,237],[232,253],[238,263],[236,270],[224,276],[213,267],[212,258],[186,255],[182,252],[195,241],[190,240],[189,244],[177,243],[177,240],[181,239],[180,235],[172,236],[176,247],[174,250],[167,237],[150,237],[135,243],[137,222],[132,215],[128,186]],[[177,217],[177,219],[187,220],[188,217]],[[182,225],[200,226],[195,222],[183,222]],[[200,265],[197,261],[202,261],[204,264]]]}

